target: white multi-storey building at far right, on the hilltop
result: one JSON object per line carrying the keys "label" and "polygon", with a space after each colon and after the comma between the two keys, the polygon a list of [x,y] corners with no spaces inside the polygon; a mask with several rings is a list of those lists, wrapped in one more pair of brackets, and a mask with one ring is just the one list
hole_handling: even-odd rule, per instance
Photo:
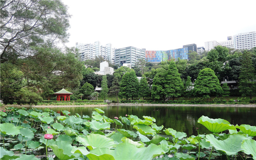
{"label": "white multi-storey building at far right, on the hilltop", "polygon": [[237,34],[233,39],[235,49],[243,50],[256,47],[256,31]]}

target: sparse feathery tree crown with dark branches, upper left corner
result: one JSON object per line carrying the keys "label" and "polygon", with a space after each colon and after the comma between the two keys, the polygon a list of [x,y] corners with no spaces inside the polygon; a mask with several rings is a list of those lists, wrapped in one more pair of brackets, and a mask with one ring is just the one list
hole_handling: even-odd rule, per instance
{"label": "sparse feathery tree crown with dark branches, upper left corner", "polygon": [[69,18],[60,0],[1,1],[1,62],[27,58],[31,46],[67,42]]}

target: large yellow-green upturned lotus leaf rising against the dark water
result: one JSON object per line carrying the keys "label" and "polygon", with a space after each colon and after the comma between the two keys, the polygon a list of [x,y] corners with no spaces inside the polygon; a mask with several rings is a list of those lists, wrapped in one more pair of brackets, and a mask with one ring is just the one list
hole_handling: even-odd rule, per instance
{"label": "large yellow-green upturned lotus leaf rising against the dark water", "polygon": [[221,118],[211,119],[207,116],[201,116],[197,123],[203,124],[212,133],[219,133],[228,129],[236,130],[234,125]]}

